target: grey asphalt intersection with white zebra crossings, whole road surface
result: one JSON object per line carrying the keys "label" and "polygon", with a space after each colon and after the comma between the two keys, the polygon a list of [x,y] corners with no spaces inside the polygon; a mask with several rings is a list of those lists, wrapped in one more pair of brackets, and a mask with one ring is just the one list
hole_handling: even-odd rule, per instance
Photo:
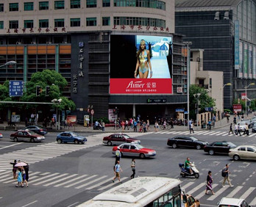
{"label": "grey asphalt intersection with white zebra crossings, whole road surface", "polygon": [[[126,131],[127,133],[128,131]],[[77,206],[118,183],[112,183],[115,158],[112,147],[102,145],[102,134],[81,132],[87,137],[85,145],[57,144],[57,132],[46,134],[40,143],[10,142],[11,131],[1,131],[0,140],[0,206]],[[173,149],[167,139],[188,131],[129,132],[130,137],[141,139],[141,145],[157,151],[150,159],[136,159],[135,176],[166,176],[179,178],[187,194],[200,200],[202,206],[216,206],[221,197],[241,197],[256,206],[256,161],[233,161],[227,155],[210,156],[204,150],[193,148]],[[249,136],[228,135],[228,126],[212,131],[195,131],[193,137],[207,142],[230,141],[235,145],[256,145],[256,133]],[[179,163],[187,157],[194,161],[200,177],[182,178]],[[29,187],[15,188],[10,161],[21,159],[29,163]],[[121,181],[132,174],[131,158],[121,159]],[[221,170],[230,164],[232,188],[222,188]],[[213,172],[216,195],[205,195],[207,172]]]}

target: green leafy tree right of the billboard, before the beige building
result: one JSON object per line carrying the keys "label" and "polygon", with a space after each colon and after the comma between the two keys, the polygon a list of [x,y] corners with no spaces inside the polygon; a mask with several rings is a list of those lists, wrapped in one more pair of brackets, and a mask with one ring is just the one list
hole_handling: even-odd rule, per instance
{"label": "green leafy tree right of the billboard, before the beige building", "polygon": [[207,90],[195,84],[192,84],[189,88],[189,108],[190,108],[189,114],[191,119],[193,120],[196,120],[196,104],[197,104],[196,94],[200,94],[198,99],[198,101],[200,101],[199,113],[205,112],[206,107],[216,106],[215,99],[211,98],[208,95]]}

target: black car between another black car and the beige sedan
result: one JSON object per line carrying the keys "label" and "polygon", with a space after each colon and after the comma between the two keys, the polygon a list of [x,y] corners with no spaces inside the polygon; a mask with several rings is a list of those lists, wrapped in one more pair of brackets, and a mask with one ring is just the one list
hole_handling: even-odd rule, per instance
{"label": "black car between another black car and the beige sedan", "polygon": [[204,151],[209,153],[210,155],[214,155],[215,153],[226,153],[228,154],[230,148],[236,148],[236,145],[232,142],[226,141],[216,141],[206,145]]}

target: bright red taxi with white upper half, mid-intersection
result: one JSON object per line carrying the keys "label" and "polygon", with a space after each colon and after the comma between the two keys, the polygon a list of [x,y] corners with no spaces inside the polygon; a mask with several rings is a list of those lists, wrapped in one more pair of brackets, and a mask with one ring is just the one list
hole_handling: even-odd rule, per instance
{"label": "bright red taxi with white upper half, mid-intersection", "polygon": [[149,156],[155,156],[157,153],[155,150],[144,148],[139,144],[125,143],[119,146],[113,147],[112,153],[115,154],[117,148],[120,148],[121,156],[138,156],[141,159]]}

